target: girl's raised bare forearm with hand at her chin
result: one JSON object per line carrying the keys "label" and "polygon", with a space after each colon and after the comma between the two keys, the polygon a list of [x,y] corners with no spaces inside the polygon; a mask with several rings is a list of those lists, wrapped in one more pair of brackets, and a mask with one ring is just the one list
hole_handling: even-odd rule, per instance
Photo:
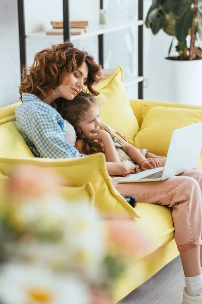
{"label": "girl's raised bare forearm with hand at her chin", "polygon": [[102,140],[107,162],[119,163],[119,156],[110,134],[104,130],[95,130],[92,139]]}

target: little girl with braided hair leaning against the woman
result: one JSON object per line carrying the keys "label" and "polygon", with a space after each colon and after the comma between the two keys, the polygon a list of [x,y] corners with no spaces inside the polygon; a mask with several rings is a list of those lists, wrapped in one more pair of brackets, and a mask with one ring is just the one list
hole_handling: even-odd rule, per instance
{"label": "little girl with braided hair leaning against the woman", "polygon": [[75,137],[73,126],[77,137],[73,145],[80,153],[105,153],[107,162],[134,161],[137,164],[135,173],[164,165],[165,158],[162,158],[162,163],[155,155],[151,155],[155,158],[146,159],[140,150],[129,144],[121,134],[102,123],[98,103],[92,95],[82,92],[73,101],[60,98],[59,107],[58,111],[67,127],[66,140],[72,143],[71,138]]}

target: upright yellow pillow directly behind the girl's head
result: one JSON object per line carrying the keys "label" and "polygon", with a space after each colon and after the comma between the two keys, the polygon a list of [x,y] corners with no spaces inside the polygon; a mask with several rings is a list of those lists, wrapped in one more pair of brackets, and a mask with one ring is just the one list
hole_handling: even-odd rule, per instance
{"label": "upright yellow pillow directly behind the girl's head", "polygon": [[118,66],[109,79],[96,85],[101,120],[132,140],[139,125],[130,106],[129,97],[123,82],[123,68]]}

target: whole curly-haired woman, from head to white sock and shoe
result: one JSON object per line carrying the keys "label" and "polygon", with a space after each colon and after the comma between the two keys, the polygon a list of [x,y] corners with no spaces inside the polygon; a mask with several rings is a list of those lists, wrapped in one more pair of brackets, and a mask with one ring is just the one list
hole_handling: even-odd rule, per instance
{"label": "whole curly-haired woman, from head to white sock and shoe", "polygon": [[[78,151],[65,141],[64,121],[51,103],[59,97],[73,100],[84,84],[97,95],[93,84],[99,77],[100,66],[93,57],[74,48],[72,43],[52,46],[35,55],[33,65],[23,74],[20,85],[23,103],[15,112],[15,125],[35,156],[78,157]],[[130,161],[106,165],[110,175],[125,176],[135,170]],[[138,184],[118,184],[118,179],[114,177],[112,182],[120,193],[135,194],[139,202],[158,203],[173,209],[175,240],[186,277],[183,304],[202,304],[202,173],[190,170],[161,182]]]}

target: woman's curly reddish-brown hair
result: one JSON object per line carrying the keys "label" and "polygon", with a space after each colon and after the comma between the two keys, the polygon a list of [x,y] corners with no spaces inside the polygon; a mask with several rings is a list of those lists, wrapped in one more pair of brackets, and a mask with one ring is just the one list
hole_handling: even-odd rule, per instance
{"label": "woman's curly reddish-brown hair", "polygon": [[83,62],[86,62],[89,69],[86,80],[88,90],[92,95],[98,95],[93,85],[102,79],[101,66],[87,52],[78,50],[71,42],[65,42],[36,53],[33,64],[23,69],[20,99],[22,93],[32,93],[40,99],[53,96],[54,89]]}

